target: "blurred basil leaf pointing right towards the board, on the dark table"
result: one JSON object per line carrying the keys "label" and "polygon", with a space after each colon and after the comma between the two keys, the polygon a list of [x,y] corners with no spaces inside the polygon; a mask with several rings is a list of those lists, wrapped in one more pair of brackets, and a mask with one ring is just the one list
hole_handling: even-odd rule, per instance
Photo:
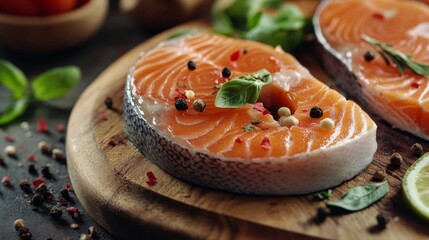
{"label": "blurred basil leaf pointing right towards the board, on the dark table", "polygon": [[80,81],[80,77],[80,69],[75,66],[44,72],[32,82],[34,97],[42,101],[61,97]]}

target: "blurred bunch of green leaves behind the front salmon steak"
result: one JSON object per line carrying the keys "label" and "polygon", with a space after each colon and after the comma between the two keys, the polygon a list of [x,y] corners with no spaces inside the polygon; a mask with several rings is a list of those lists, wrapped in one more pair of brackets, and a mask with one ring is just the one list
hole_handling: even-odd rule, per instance
{"label": "blurred bunch of green leaves behind the front salmon steak", "polygon": [[278,0],[235,0],[224,8],[214,8],[215,31],[292,50],[310,32],[311,19],[296,5],[282,3]]}

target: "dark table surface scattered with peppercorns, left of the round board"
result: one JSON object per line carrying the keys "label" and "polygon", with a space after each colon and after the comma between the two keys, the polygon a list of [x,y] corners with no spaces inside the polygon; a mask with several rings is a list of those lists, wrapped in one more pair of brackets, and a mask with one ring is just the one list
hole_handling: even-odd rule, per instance
{"label": "dark table surface scattered with peppercorns, left of the round board", "polygon": [[[16,121],[0,126],[0,157],[4,158],[5,165],[0,166],[0,179],[8,176],[11,186],[0,184],[0,239],[19,239],[13,227],[15,219],[25,220],[35,240],[38,239],[79,239],[80,235],[87,233],[90,226],[95,226],[99,239],[114,239],[109,233],[96,224],[96,219],[91,219],[82,208],[79,200],[73,192],[71,197],[75,204],[62,206],[63,215],[60,220],[53,220],[48,212],[58,202],[59,192],[70,183],[65,161],[54,160],[51,156],[42,154],[37,144],[46,141],[51,147],[65,149],[65,133],[57,131],[58,124],[67,126],[67,120],[73,104],[80,93],[111,63],[128,50],[132,49],[153,33],[145,31],[133,24],[118,10],[118,2],[110,2],[110,10],[106,22],[101,30],[89,41],[80,46],[53,54],[24,54],[0,46],[0,59],[13,62],[22,69],[29,79],[41,72],[57,66],[77,65],[82,70],[82,80],[79,85],[60,100],[48,103],[34,102],[23,116]],[[5,88],[0,86],[0,106],[5,105]],[[48,122],[48,133],[37,131],[37,123],[40,119]],[[4,139],[6,135],[13,137],[14,141]],[[6,156],[3,149],[7,145],[13,145],[17,149],[17,157]],[[31,162],[28,156],[34,154],[36,161]],[[29,173],[29,165],[34,164],[36,174]],[[48,166],[54,179],[46,180],[48,189],[54,199],[35,209],[29,202],[31,196],[27,196],[20,189],[20,182],[24,179],[30,183],[36,177],[41,176],[41,169]],[[67,215],[67,207],[76,207],[82,213],[81,220],[76,220]],[[94,221],[95,220],[95,221]],[[70,225],[77,223],[79,229],[73,230]]]}

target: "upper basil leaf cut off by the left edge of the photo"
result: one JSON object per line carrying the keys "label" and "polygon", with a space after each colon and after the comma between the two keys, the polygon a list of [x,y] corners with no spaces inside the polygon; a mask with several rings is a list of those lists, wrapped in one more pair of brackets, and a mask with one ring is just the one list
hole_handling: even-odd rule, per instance
{"label": "upper basil leaf cut off by the left edge of the photo", "polygon": [[22,97],[28,87],[24,73],[11,62],[0,59],[0,83],[12,91],[14,99]]}

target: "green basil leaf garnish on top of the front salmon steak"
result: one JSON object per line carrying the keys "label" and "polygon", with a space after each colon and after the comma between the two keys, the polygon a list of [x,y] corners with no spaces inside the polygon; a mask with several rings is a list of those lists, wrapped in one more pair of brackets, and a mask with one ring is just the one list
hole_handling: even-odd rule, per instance
{"label": "green basil leaf garnish on top of the front salmon steak", "polygon": [[222,84],[216,95],[215,106],[238,108],[246,103],[254,104],[258,100],[262,87],[271,81],[271,74],[266,69],[233,78]]}

